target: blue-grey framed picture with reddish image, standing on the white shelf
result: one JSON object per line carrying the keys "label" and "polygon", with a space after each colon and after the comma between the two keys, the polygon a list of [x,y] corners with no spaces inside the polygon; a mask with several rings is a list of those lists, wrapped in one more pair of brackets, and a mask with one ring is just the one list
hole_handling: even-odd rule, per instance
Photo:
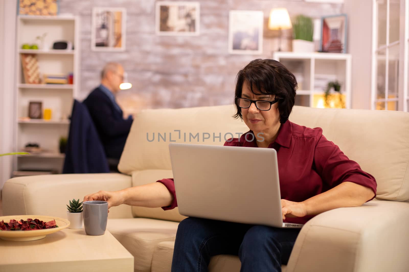
{"label": "blue-grey framed picture with reddish image, standing on the white shelf", "polygon": [[320,51],[346,53],[346,14],[321,18]]}

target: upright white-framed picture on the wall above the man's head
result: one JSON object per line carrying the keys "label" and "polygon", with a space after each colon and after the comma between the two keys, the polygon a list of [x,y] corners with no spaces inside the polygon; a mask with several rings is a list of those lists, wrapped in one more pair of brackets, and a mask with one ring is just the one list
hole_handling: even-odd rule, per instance
{"label": "upright white-framed picture on the wall above the man's head", "polygon": [[126,10],[96,7],[92,9],[91,50],[125,51]]}

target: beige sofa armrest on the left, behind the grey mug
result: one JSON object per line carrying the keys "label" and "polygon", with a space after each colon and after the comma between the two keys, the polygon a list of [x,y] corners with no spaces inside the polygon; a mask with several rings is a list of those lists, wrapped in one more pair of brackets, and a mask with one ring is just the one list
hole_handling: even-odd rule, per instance
{"label": "beige sofa armrest on the left, behind the grey mug", "polygon": [[[83,200],[99,190],[116,191],[132,186],[131,177],[118,173],[64,174],[15,177],[2,190],[3,215],[49,215],[67,218],[68,200]],[[128,205],[112,207],[108,218],[131,218]]]}

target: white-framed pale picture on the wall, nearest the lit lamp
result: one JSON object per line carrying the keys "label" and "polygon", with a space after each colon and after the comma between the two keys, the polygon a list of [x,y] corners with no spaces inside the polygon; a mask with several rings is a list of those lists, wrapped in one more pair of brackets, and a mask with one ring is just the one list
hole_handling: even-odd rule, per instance
{"label": "white-framed pale picture on the wall, nearest the lit lamp", "polygon": [[263,11],[229,11],[229,53],[263,53]]}

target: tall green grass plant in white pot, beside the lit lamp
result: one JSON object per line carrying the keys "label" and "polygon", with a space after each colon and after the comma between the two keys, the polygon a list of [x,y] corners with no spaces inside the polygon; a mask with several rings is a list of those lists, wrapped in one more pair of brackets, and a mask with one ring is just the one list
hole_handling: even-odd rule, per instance
{"label": "tall green grass plant in white pot, beside the lit lamp", "polygon": [[292,40],[292,51],[294,52],[314,52],[314,42],[312,35],[314,25],[308,16],[297,15],[292,23],[294,39]]}

